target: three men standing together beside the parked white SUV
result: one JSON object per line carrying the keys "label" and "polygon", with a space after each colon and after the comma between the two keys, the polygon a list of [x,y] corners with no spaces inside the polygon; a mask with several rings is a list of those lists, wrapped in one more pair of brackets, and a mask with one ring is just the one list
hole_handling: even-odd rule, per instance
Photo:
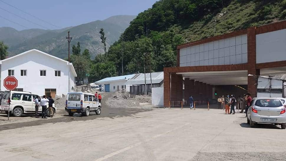
{"label": "three men standing together beside the parked white SUV", "polygon": [[[47,108],[47,103],[48,103],[48,108]],[[39,96],[36,97],[35,99],[35,117],[38,117],[38,111],[39,111],[39,106],[42,106],[42,118],[47,118],[47,110],[50,111],[50,117],[53,117],[53,109],[52,105],[55,103],[55,101],[52,99],[52,96],[49,96],[46,98],[44,95],[42,99],[40,99]]]}

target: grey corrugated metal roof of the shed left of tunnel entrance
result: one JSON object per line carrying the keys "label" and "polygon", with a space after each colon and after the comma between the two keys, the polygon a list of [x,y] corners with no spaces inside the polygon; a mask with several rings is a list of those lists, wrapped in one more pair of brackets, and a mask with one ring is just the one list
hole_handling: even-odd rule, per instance
{"label": "grey corrugated metal roof of the shed left of tunnel entrance", "polygon": [[[164,80],[163,71],[151,73],[151,76],[152,76],[152,84],[159,84]],[[145,84],[144,73],[135,74],[135,76],[130,78],[125,84],[126,85]],[[146,84],[151,84],[150,73],[146,73]]]}

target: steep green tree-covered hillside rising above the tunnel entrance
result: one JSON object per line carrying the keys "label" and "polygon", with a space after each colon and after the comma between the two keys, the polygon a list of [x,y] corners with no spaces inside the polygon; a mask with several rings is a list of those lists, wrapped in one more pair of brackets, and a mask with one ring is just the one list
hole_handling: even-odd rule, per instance
{"label": "steep green tree-covered hillside rising above the tunnel entrance", "polygon": [[160,0],[130,22],[106,58],[119,75],[144,72],[144,64],[148,72],[162,71],[176,65],[178,44],[285,17],[286,0]]}

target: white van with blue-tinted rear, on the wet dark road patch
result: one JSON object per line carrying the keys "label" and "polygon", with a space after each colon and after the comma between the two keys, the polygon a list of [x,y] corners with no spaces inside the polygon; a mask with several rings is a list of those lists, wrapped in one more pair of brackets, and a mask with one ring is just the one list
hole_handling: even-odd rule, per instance
{"label": "white van with blue-tinted rear, on the wet dark road patch", "polygon": [[70,116],[74,113],[81,113],[84,116],[89,116],[89,113],[94,111],[97,115],[101,114],[101,103],[91,93],[85,92],[70,92],[65,101],[65,110]]}

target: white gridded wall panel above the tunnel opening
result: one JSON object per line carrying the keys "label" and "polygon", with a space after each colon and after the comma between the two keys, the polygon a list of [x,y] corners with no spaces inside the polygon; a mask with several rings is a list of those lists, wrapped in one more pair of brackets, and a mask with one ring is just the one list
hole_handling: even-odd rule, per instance
{"label": "white gridded wall panel above the tunnel opening", "polygon": [[239,35],[180,49],[180,66],[241,63],[247,63],[247,35]]}

